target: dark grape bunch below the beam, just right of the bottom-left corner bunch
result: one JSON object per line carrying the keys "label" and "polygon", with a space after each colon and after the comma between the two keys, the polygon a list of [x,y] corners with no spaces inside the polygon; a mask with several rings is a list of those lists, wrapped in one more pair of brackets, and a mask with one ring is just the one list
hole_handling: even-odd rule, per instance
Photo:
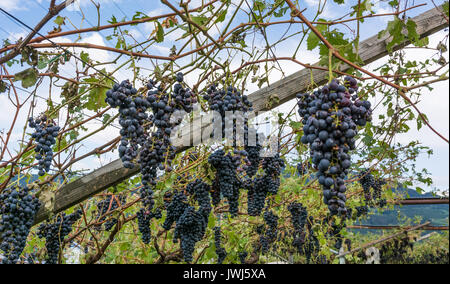
{"label": "dark grape bunch below the beam, just right of the bottom-left corner bunch", "polygon": [[81,210],[72,214],[58,215],[52,223],[43,223],[39,226],[37,235],[39,238],[45,238],[45,247],[47,249],[47,264],[58,263],[59,250],[64,239],[72,232],[72,226],[82,216]]}

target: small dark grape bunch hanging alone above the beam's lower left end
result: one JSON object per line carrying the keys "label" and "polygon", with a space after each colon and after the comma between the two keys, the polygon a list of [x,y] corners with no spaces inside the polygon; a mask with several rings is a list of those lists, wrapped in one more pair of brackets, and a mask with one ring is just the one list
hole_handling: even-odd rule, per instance
{"label": "small dark grape bunch hanging alone above the beam's lower left end", "polygon": [[56,143],[55,138],[58,137],[60,128],[52,122],[49,122],[45,115],[36,120],[30,117],[28,123],[34,129],[31,137],[36,141],[34,151],[36,152],[36,159],[39,163],[39,176],[43,176],[46,172],[50,171],[53,159],[52,146]]}

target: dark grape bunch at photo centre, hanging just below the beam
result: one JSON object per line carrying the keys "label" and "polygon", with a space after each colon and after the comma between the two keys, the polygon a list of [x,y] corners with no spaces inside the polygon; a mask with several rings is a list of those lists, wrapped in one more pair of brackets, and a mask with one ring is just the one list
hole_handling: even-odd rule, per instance
{"label": "dark grape bunch at photo centre, hanging just below the beam", "polygon": [[[212,184],[213,204],[216,205],[223,196],[228,200],[231,216],[236,216],[239,207],[239,189],[241,182],[236,175],[238,156],[225,154],[220,149],[208,157],[208,162],[216,169],[216,179]],[[240,158],[239,158],[240,159]]]}

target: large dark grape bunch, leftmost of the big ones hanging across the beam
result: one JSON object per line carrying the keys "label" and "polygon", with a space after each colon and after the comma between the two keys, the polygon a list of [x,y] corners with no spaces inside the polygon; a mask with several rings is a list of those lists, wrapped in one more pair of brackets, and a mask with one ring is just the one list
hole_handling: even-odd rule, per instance
{"label": "large dark grape bunch, leftmost of the big ones hanging across the beam", "polygon": [[148,118],[146,110],[150,103],[142,96],[129,80],[120,84],[114,84],[111,90],[106,92],[105,101],[113,108],[119,108],[119,124],[121,141],[119,156],[125,168],[134,167],[133,160],[139,153],[139,146],[145,142],[144,123]]}

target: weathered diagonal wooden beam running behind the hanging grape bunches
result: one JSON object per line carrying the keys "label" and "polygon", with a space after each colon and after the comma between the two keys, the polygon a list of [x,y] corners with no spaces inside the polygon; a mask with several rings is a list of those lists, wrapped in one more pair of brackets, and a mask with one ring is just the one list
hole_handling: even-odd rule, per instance
{"label": "weathered diagonal wooden beam running behind the hanging grape bunches", "polygon": [[[413,20],[417,24],[417,33],[420,37],[431,35],[439,30],[448,27],[446,20],[442,17],[442,7],[431,9],[424,12]],[[365,64],[369,64],[388,54],[386,50],[386,42],[388,37],[385,36],[378,39],[378,36],[373,36],[367,40],[364,40],[360,44],[360,57]],[[405,41],[402,44],[398,44],[393,47],[394,50],[401,49],[408,45],[409,42]],[[317,64],[314,64],[318,66]],[[342,70],[347,70],[347,67],[342,67]],[[305,92],[310,80],[311,72],[314,77],[314,81],[318,84],[325,84],[327,82],[328,72],[317,69],[303,69],[300,70],[278,82],[273,83],[271,86],[263,88],[251,95],[249,100],[253,102],[255,112],[267,111],[273,109],[284,102],[287,102],[295,98],[299,92]],[[273,103],[270,107],[267,106],[266,101],[273,96],[278,97],[278,102]],[[181,148],[178,152],[184,151],[187,148]],[[59,213],[64,211],[89,197],[113,186],[121,181],[137,174],[139,167],[134,169],[126,169],[122,167],[120,160],[116,160],[110,164],[107,164],[84,177],[75,180],[67,185],[62,186],[55,194],[55,204],[53,213]],[[45,209],[41,209],[35,220],[35,224],[44,221],[51,212]]]}

